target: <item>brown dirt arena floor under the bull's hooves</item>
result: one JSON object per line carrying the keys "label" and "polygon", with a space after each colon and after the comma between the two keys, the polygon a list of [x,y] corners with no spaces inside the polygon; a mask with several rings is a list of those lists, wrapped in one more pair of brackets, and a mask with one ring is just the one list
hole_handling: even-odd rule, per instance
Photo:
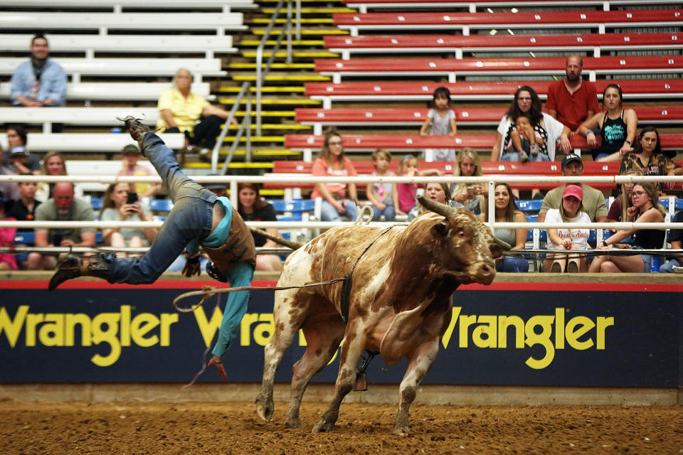
{"label": "brown dirt arena floor under the bull's hooves", "polygon": [[396,407],[342,405],[334,432],[311,434],[324,403],[285,403],[262,422],[251,402],[0,402],[1,454],[682,454],[680,406],[413,405],[411,434],[391,433]]}

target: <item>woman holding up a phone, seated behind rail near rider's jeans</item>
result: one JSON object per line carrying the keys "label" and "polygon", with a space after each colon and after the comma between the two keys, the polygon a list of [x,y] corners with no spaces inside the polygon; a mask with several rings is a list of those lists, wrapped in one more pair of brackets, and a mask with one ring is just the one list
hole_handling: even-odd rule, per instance
{"label": "woman holding up a phone, seated behind rail near rider's jeans", "polygon": [[[100,210],[100,221],[152,221],[152,213],[144,210],[139,200],[128,202],[128,183],[113,183],[105,191]],[[149,247],[157,237],[155,228],[106,228],[102,230],[105,245],[120,247]],[[121,255],[126,257],[125,253]],[[139,255],[129,255],[139,256]]]}

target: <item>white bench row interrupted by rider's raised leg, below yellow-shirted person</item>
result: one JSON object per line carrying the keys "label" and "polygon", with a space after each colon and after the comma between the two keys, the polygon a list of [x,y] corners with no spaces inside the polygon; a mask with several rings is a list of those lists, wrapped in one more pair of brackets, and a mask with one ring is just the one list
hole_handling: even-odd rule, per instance
{"label": "white bench row interrupted by rider's raised leg, below yellow-shirted person", "polygon": [[[123,123],[120,123],[123,125]],[[159,134],[171,149],[182,149],[185,146],[185,135],[182,133]],[[0,143],[7,143],[7,134],[0,134]],[[26,148],[32,152],[96,152],[120,153],[121,149],[134,141],[125,133],[28,133]]]}

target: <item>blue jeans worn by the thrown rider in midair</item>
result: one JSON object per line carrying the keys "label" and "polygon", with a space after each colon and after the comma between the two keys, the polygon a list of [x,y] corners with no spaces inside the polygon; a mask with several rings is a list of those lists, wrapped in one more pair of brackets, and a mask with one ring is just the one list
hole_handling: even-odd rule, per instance
{"label": "blue jeans worn by the thrown rider in midair", "polygon": [[142,258],[103,256],[109,264],[110,283],[153,283],[191,240],[203,240],[211,234],[216,195],[180,170],[173,151],[156,134],[145,134],[141,148],[169,188],[174,205]]}

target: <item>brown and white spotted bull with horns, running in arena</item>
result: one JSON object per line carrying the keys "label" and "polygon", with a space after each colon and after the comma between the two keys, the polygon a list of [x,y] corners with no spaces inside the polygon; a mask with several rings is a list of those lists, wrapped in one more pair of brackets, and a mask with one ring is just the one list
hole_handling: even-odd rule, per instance
{"label": "brown and white spotted bull with horns, running in arena", "polygon": [[[378,237],[361,256],[352,278],[348,322],[342,321],[342,283],[275,293],[275,333],[265,346],[258,415],[270,421],[272,385],[285,350],[301,328],[306,352],[293,368],[287,427],[299,427],[299,408],[309,380],[340,353],[332,404],[313,432],[332,430],[339,405],[354,386],[364,350],[381,353],[386,365],[408,358],[401,381],[394,432],[408,432],[408,411],[432,365],[451,319],[450,296],[460,284],[490,284],[502,248],[468,210],[420,200],[432,212]],[[344,277],[383,228],[352,225],[328,230],[290,255],[278,286],[297,286]]]}

